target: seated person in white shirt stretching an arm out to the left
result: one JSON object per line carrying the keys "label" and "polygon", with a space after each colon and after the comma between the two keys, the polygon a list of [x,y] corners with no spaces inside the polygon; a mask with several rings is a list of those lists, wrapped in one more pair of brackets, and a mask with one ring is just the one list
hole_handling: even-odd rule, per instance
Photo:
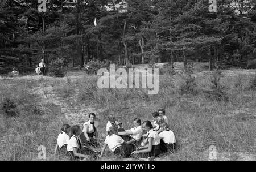
{"label": "seated person in white shirt stretching an arm out to the left", "polygon": [[141,141],[142,139],[143,130],[141,127],[141,119],[139,118],[133,119],[133,125],[134,125],[134,128],[131,128],[130,130],[118,132],[118,135],[130,136],[130,139],[129,141],[127,141],[127,144],[135,144]]}

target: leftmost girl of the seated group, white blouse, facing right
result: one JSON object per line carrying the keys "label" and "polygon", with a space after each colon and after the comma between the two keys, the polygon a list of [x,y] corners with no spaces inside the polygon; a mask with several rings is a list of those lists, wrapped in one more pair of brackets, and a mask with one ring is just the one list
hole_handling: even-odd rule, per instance
{"label": "leftmost girl of the seated group, white blouse, facing right", "polygon": [[67,154],[69,131],[70,131],[69,124],[63,124],[63,126],[61,127],[61,133],[58,135],[58,138],[57,138],[57,144],[54,150],[54,155],[56,155],[57,151],[63,154]]}

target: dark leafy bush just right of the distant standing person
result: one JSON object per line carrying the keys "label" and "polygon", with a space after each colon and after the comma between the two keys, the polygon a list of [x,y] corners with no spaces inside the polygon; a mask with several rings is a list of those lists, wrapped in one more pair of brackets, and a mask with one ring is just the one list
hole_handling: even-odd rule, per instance
{"label": "dark leafy bush just right of the distant standing person", "polygon": [[49,67],[47,68],[47,74],[49,76],[63,77],[65,75],[63,65],[63,58],[57,58],[55,60],[52,60],[51,63],[49,63]]}

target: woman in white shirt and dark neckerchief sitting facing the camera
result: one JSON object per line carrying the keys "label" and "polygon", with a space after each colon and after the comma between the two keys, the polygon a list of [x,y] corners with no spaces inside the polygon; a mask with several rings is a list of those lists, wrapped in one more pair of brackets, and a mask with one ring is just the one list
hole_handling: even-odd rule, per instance
{"label": "woman in white shirt and dark neckerchief sitting facing the camera", "polygon": [[95,121],[96,115],[94,113],[89,114],[89,121],[84,123],[84,128],[80,135],[81,141],[85,145],[92,145],[97,147],[99,144],[97,142],[98,137],[98,122]]}

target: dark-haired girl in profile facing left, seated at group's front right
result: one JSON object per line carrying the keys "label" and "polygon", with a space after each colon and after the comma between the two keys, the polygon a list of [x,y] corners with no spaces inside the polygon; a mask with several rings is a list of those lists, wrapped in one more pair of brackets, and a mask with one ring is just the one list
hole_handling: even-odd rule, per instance
{"label": "dark-haired girl in profile facing left, seated at group's front right", "polygon": [[142,129],[147,131],[147,139],[142,143],[142,147],[138,147],[137,151],[132,152],[134,157],[148,158],[158,157],[160,154],[160,137],[158,132],[153,129],[150,121],[142,123]]}

